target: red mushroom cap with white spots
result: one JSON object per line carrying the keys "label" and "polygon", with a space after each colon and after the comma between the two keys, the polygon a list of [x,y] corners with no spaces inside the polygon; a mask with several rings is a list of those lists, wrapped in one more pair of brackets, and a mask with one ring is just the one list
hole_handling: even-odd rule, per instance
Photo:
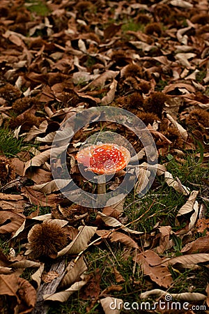
{"label": "red mushroom cap with white spots", "polygon": [[130,161],[130,152],[116,144],[91,145],[79,151],[77,162],[97,174],[114,174],[123,170]]}

